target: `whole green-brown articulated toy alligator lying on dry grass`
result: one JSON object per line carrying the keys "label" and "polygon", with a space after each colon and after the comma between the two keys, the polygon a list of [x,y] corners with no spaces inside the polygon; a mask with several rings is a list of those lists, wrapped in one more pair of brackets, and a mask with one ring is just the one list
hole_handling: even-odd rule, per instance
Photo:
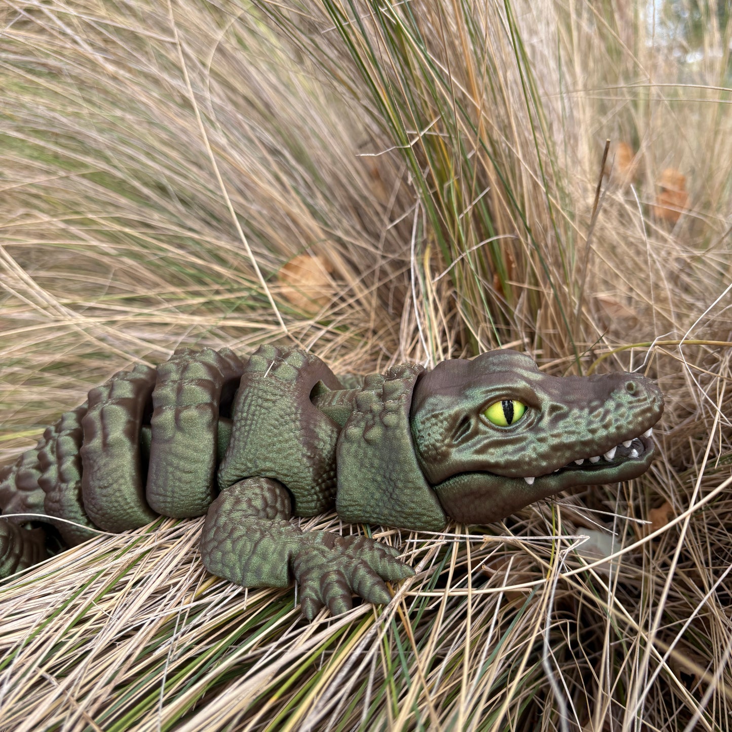
{"label": "whole green-brown articulated toy alligator lying on dry grass", "polygon": [[[432,371],[402,365],[341,383],[316,356],[262,346],[176,351],[91,389],[0,473],[0,576],[45,559],[54,523],[76,545],[157,514],[206,514],[203,564],[239,585],[300,585],[312,619],[389,602],[413,574],[367,537],[301,531],[291,517],[442,531],[490,523],[576,485],[638,477],[663,397],[642,376],[559,378],[490,351]],[[348,388],[347,388],[348,387]],[[23,522],[26,522],[23,525]],[[89,528],[84,528],[89,527]]]}

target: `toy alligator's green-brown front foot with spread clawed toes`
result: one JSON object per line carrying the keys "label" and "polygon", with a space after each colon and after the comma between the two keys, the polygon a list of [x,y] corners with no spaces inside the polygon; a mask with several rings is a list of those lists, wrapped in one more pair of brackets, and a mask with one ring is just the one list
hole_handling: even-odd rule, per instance
{"label": "toy alligator's green-brown front foot with spread clawed toes", "polygon": [[386,581],[404,580],[414,569],[399,552],[368,537],[340,537],[324,531],[305,534],[307,547],[292,558],[302,613],[312,620],[324,605],[332,615],[353,607],[352,594],[384,605],[392,599]]}

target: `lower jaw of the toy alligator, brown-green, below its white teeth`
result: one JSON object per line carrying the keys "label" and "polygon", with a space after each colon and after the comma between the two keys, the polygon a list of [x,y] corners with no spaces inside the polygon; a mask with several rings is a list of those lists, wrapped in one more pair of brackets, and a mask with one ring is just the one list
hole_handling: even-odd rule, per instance
{"label": "lower jaw of the toy alligator, brown-green, below its white teeth", "polygon": [[463,523],[498,521],[541,498],[578,485],[604,485],[637,478],[651,466],[655,449],[651,439],[640,438],[637,457],[616,456],[611,461],[566,466],[540,475],[530,485],[523,477],[487,472],[460,473],[433,486],[444,511]]}

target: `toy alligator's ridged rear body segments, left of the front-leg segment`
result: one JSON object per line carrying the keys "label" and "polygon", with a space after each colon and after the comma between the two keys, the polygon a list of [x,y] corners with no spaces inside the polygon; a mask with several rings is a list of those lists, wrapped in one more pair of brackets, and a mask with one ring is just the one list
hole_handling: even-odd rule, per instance
{"label": "toy alligator's ridged rear body segments, left of the front-leg segment", "polygon": [[0,513],[18,514],[0,518],[0,577],[45,559],[43,531],[26,528],[31,521],[53,524],[74,546],[94,529],[134,529],[157,513],[205,513],[231,434],[219,408],[242,368],[228,348],[182,349],[157,369],[138,365],[91,389],[88,403],[0,468]]}

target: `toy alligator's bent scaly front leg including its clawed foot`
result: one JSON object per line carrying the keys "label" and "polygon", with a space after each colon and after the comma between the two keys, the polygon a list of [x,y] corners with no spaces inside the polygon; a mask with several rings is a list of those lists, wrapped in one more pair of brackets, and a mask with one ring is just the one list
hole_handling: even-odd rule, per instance
{"label": "toy alligator's bent scaly front leg including its clawed foot", "polygon": [[290,515],[289,493],[276,480],[249,478],[226,488],[203,525],[206,569],[244,587],[286,587],[295,578],[309,620],[324,605],[333,615],[349,610],[352,594],[389,602],[384,580],[414,575],[392,547],[367,537],[303,532]]}

